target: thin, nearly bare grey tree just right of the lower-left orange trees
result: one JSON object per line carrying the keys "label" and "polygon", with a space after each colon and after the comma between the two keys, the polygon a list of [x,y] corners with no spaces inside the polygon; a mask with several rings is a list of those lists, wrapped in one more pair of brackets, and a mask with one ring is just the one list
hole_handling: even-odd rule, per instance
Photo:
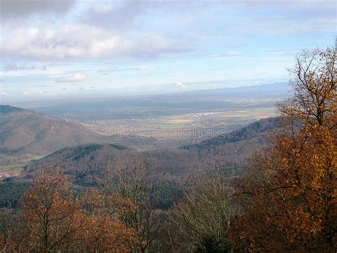
{"label": "thin, nearly bare grey tree just right of the lower-left orange trees", "polygon": [[[114,170],[111,170],[111,166]],[[124,210],[121,219],[137,233],[138,243],[134,244],[133,251],[149,252],[151,244],[157,239],[162,212],[156,210],[154,205],[155,193],[146,161],[137,153],[120,155],[113,165],[107,166],[101,181],[101,187],[109,194],[132,203],[134,210]]]}

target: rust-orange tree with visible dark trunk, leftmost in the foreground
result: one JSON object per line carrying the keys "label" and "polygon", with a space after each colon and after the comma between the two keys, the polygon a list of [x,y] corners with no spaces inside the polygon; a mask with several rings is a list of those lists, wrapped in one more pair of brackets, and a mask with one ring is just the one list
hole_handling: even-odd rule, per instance
{"label": "rust-orange tree with visible dark trunk, leftmost in the foreground", "polygon": [[41,172],[33,187],[22,197],[23,215],[29,247],[41,252],[55,252],[73,247],[85,224],[80,206],[66,187],[66,178],[58,170]]}

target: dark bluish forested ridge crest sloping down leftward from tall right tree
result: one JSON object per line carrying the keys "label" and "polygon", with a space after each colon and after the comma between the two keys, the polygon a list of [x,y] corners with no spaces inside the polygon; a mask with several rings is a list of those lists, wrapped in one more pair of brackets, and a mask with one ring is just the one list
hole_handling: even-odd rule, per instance
{"label": "dark bluish forested ridge crest sloping down leftward from tall right tree", "polygon": [[264,141],[264,135],[269,133],[271,130],[279,128],[279,118],[265,118],[263,120],[258,120],[250,125],[233,131],[232,133],[225,133],[223,135],[218,135],[213,138],[203,140],[200,143],[193,145],[186,145],[181,147],[185,150],[209,150],[215,148],[219,145],[225,145],[228,143],[237,143],[241,140],[251,140],[253,138],[262,138]]}

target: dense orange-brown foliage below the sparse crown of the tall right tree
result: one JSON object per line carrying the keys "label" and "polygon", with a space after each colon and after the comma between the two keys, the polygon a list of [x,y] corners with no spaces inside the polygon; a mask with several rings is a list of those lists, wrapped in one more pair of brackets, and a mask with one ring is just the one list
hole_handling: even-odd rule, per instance
{"label": "dense orange-brown foliage below the sparse crown of the tall right tree", "polygon": [[244,197],[247,215],[239,222],[245,247],[251,240],[253,251],[332,247],[336,150],[331,130],[305,126],[295,140],[280,138],[258,158],[250,171],[255,175],[242,182],[243,191],[254,193]]}

